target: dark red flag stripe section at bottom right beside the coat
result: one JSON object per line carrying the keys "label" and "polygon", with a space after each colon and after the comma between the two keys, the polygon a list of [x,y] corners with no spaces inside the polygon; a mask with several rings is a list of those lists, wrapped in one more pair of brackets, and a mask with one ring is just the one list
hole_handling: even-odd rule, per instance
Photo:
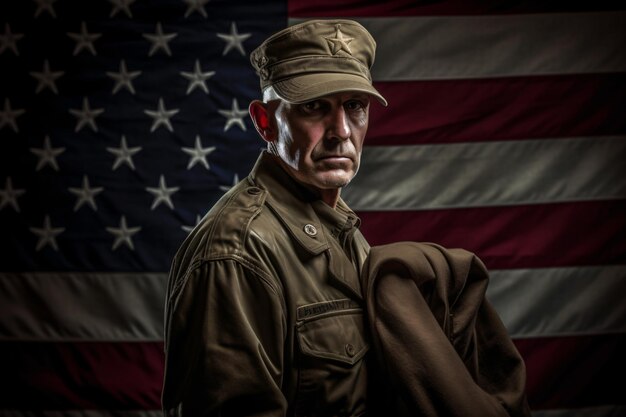
{"label": "dark red flag stripe section at bottom right beside the coat", "polygon": [[514,340],[533,410],[626,404],[626,334]]}

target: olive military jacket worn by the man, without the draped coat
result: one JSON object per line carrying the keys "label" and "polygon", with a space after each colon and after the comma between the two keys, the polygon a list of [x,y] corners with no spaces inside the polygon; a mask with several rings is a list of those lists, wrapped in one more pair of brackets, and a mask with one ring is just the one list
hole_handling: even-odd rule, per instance
{"label": "olive military jacket worn by the man, without the draped coat", "polygon": [[263,153],[173,261],[165,415],[364,414],[358,224]]}

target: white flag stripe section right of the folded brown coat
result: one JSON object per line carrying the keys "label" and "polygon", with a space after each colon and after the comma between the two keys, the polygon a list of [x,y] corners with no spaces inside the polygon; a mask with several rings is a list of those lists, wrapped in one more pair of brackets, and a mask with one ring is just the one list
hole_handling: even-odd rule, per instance
{"label": "white flag stripe section right of the folded brown coat", "polygon": [[626,265],[492,270],[487,297],[514,338],[626,333]]}

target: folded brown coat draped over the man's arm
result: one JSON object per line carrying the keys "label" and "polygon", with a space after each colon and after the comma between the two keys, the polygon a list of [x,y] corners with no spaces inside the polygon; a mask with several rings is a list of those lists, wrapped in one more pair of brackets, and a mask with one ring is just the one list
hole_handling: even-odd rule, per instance
{"label": "folded brown coat draped over the man's arm", "polygon": [[376,409],[530,416],[524,362],[485,298],[489,276],[478,257],[400,242],[372,247],[362,276],[380,373],[374,392],[384,393]]}

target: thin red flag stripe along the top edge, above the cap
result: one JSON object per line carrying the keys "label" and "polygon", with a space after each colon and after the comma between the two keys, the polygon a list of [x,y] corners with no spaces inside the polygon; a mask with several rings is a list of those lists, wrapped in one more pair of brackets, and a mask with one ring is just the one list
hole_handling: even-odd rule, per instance
{"label": "thin red flag stripe along the top edge, above the cap", "polygon": [[392,17],[392,16],[445,16],[486,15],[508,13],[547,13],[614,10],[615,3],[608,0],[573,4],[571,1],[467,1],[446,0],[416,2],[415,0],[369,1],[363,0],[289,0],[289,17]]}

